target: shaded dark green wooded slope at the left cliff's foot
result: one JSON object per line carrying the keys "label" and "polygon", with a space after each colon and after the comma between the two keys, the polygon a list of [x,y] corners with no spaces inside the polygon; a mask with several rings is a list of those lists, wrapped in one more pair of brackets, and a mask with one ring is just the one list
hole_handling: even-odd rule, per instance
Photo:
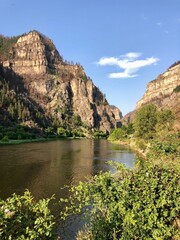
{"label": "shaded dark green wooded slope at the left cliff's foot", "polygon": [[62,121],[56,116],[46,116],[42,109],[5,79],[0,78],[0,140],[44,138],[106,137],[101,131],[91,132],[88,124],[80,116],[72,114],[71,109],[61,108]]}

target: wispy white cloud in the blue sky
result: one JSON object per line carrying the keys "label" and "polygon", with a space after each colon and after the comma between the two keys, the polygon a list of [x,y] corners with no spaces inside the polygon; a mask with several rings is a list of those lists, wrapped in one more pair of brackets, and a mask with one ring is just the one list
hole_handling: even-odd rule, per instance
{"label": "wispy white cloud in the blue sky", "polygon": [[138,59],[142,54],[139,52],[129,52],[125,55],[117,57],[102,57],[97,64],[100,66],[117,66],[122,69],[122,72],[110,73],[109,78],[133,78],[138,75],[135,74],[140,68],[155,65],[159,59],[150,57],[145,59]]}

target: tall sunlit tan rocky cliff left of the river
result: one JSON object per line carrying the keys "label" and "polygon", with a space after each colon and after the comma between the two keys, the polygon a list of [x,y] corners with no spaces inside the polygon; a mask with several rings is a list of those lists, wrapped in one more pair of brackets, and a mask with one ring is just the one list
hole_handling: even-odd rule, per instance
{"label": "tall sunlit tan rocky cliff left of the river", "polygon": [[[109,131],[121,118],[119,109],[108,104],[83,67],[64,62],[53,42],[39,32],[20,36],[6,56],[0,58],[2,79],[13,90],[21,82],[23,105],[36,106],[36,115],[49,126],[78,119],[89,129]],[[32,121],[31,114],[25,120]]]}

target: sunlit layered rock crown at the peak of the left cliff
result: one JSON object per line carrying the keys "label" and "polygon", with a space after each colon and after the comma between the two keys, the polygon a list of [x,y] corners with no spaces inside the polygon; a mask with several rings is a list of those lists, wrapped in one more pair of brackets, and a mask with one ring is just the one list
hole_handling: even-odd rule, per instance
{"label": "sunlit layered rock crown at the peak of the left cliff", "polygon": [[53,42],[36,31],[21,36],[9,56],[3,66],[11,67],[20,75],[44,74],[62,62]]}

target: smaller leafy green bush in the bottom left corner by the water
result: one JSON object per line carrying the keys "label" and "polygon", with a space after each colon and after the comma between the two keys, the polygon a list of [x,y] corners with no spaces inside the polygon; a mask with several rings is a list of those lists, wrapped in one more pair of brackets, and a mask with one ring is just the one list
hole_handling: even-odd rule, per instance
{"label": "smaller leafy green bush in the bottom left corner by the water", "polygon": [[0,199],[0,239],[54,239],[50,199],[33,200],[29,191]]}

